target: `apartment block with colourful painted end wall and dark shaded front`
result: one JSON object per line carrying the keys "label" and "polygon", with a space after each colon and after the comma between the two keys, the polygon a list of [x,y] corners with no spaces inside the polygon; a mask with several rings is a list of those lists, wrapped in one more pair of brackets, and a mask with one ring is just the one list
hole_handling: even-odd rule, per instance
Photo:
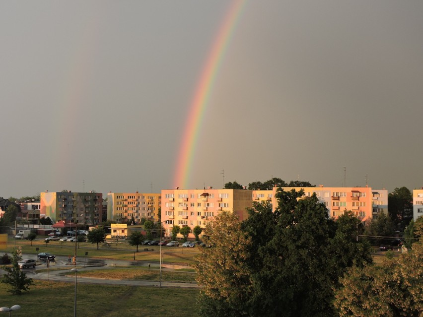
{"label": "apartment block with colourful painted end wall and dark shaded front", "polygon": [[102,221],[103,194],[98,192],[41,192],[40,212],[59,220],[96,225]]}

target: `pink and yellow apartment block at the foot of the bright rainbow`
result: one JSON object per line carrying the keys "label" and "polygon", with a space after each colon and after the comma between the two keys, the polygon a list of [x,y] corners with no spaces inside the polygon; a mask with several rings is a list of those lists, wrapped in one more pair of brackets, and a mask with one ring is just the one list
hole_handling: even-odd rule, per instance
{"label": "pink and yellow apartment block at the foot of the bright rainbow", "polygon": [[[205,228],[208,221],[222,210],[233,211],[240,221],[252,207],[252,190],[162,190],[161,222],[165,236],[171,236],[174,225]],[[194,238],[193,234],[189,238]]]}

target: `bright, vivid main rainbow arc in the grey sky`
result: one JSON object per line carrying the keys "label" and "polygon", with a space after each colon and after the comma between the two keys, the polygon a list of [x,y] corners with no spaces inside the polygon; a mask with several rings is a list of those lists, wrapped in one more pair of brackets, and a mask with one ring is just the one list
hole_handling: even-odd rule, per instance
{"label": "bright, vivid main rainbow arc in the grey sky", "polygon": [[182,143],[177,159],[174,187],[186,188],[191,176],[191,165],[200,134],[200,127],[213,90],[214,82],[228,47],[231,36],[242,13],[245,0],[234,0],[226,14],[216,40],[213,42],[207,63],[203,68],[199,85],[189,110]]}

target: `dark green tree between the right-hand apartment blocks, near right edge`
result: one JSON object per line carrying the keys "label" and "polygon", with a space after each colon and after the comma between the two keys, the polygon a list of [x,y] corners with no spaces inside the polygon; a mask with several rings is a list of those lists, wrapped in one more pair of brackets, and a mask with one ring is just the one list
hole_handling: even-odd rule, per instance
{"label": "dark green tree between the right-hand apartment blocks, near right edge", "polygon": [[408,188],[395,188],[388,194],[388,213],[399,229],[404,229],[413,219],[413,194]]}

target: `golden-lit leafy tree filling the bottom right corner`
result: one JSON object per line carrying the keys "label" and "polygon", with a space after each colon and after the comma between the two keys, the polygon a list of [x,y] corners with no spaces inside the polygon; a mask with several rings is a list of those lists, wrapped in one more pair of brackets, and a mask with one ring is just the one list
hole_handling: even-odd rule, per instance
{"label": "golden-lit leafy tree filling the bottom right corner", "polygon": [[423,218],[413,250],[381,265],[353,267],[341,278],[334,305],[339,316],[419,317],[423,314]]}

